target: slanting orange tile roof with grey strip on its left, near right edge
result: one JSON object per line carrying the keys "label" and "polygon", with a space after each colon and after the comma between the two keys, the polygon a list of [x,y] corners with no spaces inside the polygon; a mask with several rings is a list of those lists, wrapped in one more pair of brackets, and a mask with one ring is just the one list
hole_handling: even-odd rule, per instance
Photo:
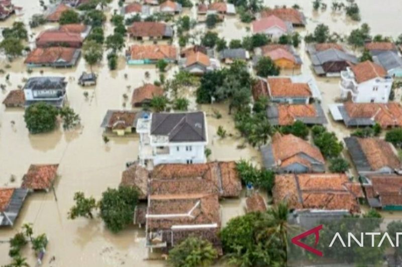
{"label": "slanting orange tile roof with grey strip on its left, near right edge", "polygon": [[382,167],[400,168],[400,161],[392,150],[392,145],[378,138],[357,138],[372,170]]}

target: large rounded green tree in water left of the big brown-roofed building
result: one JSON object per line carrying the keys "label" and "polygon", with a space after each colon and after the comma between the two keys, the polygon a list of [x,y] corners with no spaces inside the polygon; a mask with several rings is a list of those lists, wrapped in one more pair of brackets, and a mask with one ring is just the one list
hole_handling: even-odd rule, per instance
{"label": "large rounded green tree in water left of the big brown-roofed building", "polygon": [[108,188],[99,201],[100,217],[112,232],[119,232],[133,223],[138,192],[132,187]]}

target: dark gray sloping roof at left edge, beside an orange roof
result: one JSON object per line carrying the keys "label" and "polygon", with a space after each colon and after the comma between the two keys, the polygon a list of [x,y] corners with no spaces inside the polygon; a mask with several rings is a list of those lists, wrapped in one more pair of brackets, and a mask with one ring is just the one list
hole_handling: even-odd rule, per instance
{"label": "dark gray sloping roof at left edge, beside an orange roof", "polygon": [[5,211],[0,212],[0,226],[13,226],[24,204],[28,189],[16,188]]}

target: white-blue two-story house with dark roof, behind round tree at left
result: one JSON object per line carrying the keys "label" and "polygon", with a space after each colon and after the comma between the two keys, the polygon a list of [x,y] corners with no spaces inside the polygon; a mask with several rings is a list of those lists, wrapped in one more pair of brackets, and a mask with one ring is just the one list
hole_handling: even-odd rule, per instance
{"label": "white-blue two-story house with dark roof, behind round tree at left", "polygon": [[45,102],[61,108],[66,100],[64,77],[33,77],[24,86],[25,106]]}

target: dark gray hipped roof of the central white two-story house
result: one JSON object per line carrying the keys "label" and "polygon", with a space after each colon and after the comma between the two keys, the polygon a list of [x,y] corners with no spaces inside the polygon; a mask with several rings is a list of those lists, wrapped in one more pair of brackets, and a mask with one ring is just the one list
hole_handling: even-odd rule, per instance
{"label": "dark gray hipped roof of the central white two-story house", "polygon": [[169,136],[170,142],[205,142],[204,113],[153,113],[151,134]]}

